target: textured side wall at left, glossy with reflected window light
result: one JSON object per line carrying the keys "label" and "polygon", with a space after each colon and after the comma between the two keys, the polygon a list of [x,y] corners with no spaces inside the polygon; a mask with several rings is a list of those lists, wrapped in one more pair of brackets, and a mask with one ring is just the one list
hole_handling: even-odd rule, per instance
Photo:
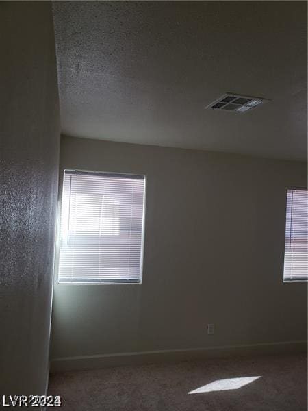
{"label": "textured side wall at left, glossy with reflected window light", "polygon": [[0,393],[44,394],[60,110],[51,2],[0,2]]}

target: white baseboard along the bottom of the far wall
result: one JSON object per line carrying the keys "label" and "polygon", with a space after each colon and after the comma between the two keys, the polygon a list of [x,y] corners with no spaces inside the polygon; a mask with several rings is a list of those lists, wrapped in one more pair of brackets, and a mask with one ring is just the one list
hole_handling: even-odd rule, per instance
{"label": "white baseboard along the bottom of the far wall", "polygon": [[298,352],[307,352],[307,341],[283,341],[279,343],[96,354],[93,356],[54,358],[51,360],[51,372],[99,369],[106,366],[149,364],[153,362],[185,361],[196,358]]}

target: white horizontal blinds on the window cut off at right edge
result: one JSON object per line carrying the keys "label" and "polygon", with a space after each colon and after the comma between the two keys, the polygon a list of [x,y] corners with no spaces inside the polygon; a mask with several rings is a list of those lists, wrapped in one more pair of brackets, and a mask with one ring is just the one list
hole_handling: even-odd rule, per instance
{"label": "white horizontal blinds on the window cut off at right edge", "polygon": [[285,223],[285,281],[308,278],[308,192],[287,190],[287,216]]}

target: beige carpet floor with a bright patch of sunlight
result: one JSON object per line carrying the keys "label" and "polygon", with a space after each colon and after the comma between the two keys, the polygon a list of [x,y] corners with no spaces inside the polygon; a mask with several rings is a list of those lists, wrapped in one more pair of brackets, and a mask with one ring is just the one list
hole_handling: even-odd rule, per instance
{"label": "beige carpet floor with a bright patch of sunlight", "polygon": [[61,395],[62,409],[72,411],[307,411],[307,357],[211,358],[51,373],[49,394]]}

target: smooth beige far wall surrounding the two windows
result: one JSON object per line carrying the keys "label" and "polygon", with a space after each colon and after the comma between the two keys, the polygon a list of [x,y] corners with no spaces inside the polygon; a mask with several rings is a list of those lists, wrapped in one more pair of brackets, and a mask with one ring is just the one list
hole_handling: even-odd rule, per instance
{"label": "smooth beige far wall surrounding the two windows", "polygon": [[60,165],[144,173],[146,232],[142,285],[55,284],[52,358],[306,339],[306,284],[283,284],[305,163],[65,137]]}

